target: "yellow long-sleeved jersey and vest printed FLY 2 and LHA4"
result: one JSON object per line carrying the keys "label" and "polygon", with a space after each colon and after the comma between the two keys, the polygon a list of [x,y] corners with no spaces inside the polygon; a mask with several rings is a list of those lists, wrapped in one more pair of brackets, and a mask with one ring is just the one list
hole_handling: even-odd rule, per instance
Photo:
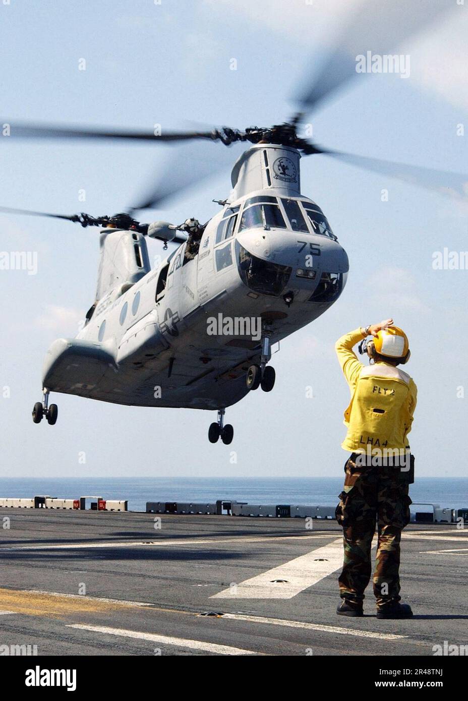
{"label": "yellow long-sleeved jersey and vest printed FLY 2 and LHA4", "polygon": [[409,449],[407,435],[413,423],[417,388],[411,377],[386,362],[363,365],[353,346],[364,339],[361,329],[336,341],[338,361],[350,386],[351,400],[345,410],[347,435],[341,447],[352,453],[372,449]]}

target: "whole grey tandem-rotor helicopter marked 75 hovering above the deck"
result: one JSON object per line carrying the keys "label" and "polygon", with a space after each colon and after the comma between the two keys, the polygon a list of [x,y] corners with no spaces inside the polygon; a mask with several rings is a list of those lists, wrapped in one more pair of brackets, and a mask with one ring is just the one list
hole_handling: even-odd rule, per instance
{"label": "whole grey tandem-rotor helicopter marked 75 hovering above the deck", "polygon": [[[140,407],[214,410],[217,421],[209,426],[209,441],[221,437],[230,444],[233,427],[224,423],[226,408],[259,387],[273,389],[275,370],[268,365],[272,345],[323,314],[338,299],[347,278],[344,248],[319,205],[301,193],[301,156],[326,154],[413,184],[438,191],[449,186],[462,193],[466,176],[323,149],[297,134],[305,114],[355,75],[355,56],[362,50],[357,46],[362,44],[357,32],[362,13],[376,36],[380,27],[386,29],[385,41],[397,43],[432,20],[445,4],[423,0],[415,12],[402,2],[383,0],[377,14],[376,5],[366,4],[357,14],[322,72],[301,93],[297,113],[280,125],[154,135],[10,121],[11,135],[22,138],[252,144],[233,166],[226,200],[214,200],[221,211],[205,223],[189,218],[182,224],[142,224],[134,218],[135,212],[153,209],[168,193],[174,194],[177,187],[167,183],[164,193],[156,189],[136,207],[113,216],[0,208],[100,227],[92,306],[76,338],[58,339],[47,351],[43,400],[34,404],[34,423],[46,418],[55,424],[57,405],[48,400],[50,392],[57,392]],[[400,21],[402,16],[406,22]],[[146,237],[163,242],[165,250],[175,244],[153,270]],[[246,328],[209,335],[207,320],[213,318],[261,320],[261,336],[252,337]]]}

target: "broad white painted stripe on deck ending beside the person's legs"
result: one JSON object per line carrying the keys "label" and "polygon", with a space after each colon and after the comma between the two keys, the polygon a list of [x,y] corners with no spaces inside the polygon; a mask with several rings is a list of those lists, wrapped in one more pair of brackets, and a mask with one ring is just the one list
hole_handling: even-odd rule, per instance
{"label": "broad white painted stripe on deck ending beside the person's legs", "polygon": [[[343,567],[343,538],[235,584],[210,599],[291,599]],[[274,580],[285,580],[282,583]]]}

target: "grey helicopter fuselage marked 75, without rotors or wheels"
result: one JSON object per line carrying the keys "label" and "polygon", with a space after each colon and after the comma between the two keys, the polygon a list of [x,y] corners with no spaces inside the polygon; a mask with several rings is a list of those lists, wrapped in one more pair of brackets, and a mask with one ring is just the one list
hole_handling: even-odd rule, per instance
{"label": "grey helicopter fuselage marked 75, without rotors or wheels", "polygon": [[347,276],[345,250],[319,207],[299,193],[296,154],[270,144],[243,154],[228,203],[205,226],[193,258],[183,243],[146,271],[142,236],[104,230],[109,250],[128,237],[125,255],[135,250],[141,273],[102,295],[76,339],[53,343],[43,386],[147,407],[220,409],[242,399],[247,368],[261,355],[252,328],[281,341],[324,313]]}

